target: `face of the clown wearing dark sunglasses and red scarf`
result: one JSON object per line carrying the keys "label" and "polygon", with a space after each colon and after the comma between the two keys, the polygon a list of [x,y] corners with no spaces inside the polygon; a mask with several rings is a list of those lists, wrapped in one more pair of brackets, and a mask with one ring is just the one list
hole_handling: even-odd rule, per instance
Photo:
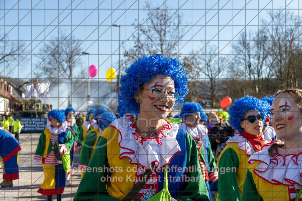
{"label": "face of the clown wearing dark sunglasses and red scarf", "polygon": [[[252,116],[252,115],[255,115],[257,116],[258,114],[260,114],[259,111],[255,111],[255,110],[249,110],[247,111],[242,119],[245,119],[245,118],[248,118],[248,116]],[[249,134],[252,134],[252,135],[259,135],[260,133],[262,133],[262,129],[263,129],[263,123],[262,123],[262,120],[259,120],[256,118],[256,120],[251,123],[249,122],[249,120],[243,120],[243,121],[240,121],[240,126]]]}

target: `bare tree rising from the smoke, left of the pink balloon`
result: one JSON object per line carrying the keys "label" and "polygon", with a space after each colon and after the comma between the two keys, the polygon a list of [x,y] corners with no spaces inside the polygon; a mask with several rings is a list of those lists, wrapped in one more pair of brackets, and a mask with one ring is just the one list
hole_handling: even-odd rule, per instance
{"label": "bare tree rising from the smoke, left of the pink balloon", "polygon": [[60,31],[58,38],[46,42],[45,48],[40,49],[38,71],[35,75],[40,78],[67,79],[66,84],[70,86],[69,89],[66,89],[68,105],[71,106],[70,95],[73,78],[82,77],[82,75],[75,74],[76,68],[82,66],[81,41]]}

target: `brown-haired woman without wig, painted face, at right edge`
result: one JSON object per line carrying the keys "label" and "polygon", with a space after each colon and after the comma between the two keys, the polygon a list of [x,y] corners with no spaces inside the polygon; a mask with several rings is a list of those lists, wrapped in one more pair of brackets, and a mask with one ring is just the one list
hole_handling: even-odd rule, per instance
{"label": "brown-haired woman without wig, painted face, at right edge", "polygon": [[271,125],[279,139],[249,158],[241,200],[302,200],[302,90],[275,93]]}

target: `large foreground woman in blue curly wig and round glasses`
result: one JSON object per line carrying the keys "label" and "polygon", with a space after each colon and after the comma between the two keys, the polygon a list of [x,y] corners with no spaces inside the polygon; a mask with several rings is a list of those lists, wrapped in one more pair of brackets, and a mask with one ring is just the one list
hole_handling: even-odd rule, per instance
{"label": "large foreground woman in blue curly wig and round glasses", "polygon": [[[103,131],[75,201],[145,201],[162,197],[164,189],[172,200],[209,200],[194,139],[166,120],[188,93],[182,66],[158,54],[139,58],[126,70],[119,104],[139,115],[118,118]],[[92,167],[115,171],[88,172]]]}

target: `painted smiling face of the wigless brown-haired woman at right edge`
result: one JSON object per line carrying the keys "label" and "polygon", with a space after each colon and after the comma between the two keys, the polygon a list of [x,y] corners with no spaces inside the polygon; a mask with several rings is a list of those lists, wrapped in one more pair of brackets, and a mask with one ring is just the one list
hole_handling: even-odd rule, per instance
{"label": "painted smiling face of the wigless brown-haired woman at right edge", "polygon": [[302,132],[302,115],[294,98],[281,93],[271,105],[271,125],[276,135],[284,140],[298,140]]}

